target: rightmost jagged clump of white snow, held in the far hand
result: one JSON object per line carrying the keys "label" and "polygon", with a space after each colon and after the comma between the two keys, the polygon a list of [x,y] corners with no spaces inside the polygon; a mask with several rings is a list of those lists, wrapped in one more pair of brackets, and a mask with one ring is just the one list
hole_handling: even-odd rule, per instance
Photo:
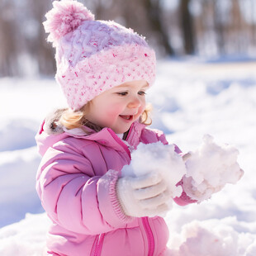
{"label": "rightmost jagged clump of white snow, held in the far hand", "polygon": [[208,199],[226,183],[235,184],[243,176],[237,163],[239,151],[231,145],[216,145],[211,135],[204,135],[201,147],[190,154],[184,190],[193,199]]}

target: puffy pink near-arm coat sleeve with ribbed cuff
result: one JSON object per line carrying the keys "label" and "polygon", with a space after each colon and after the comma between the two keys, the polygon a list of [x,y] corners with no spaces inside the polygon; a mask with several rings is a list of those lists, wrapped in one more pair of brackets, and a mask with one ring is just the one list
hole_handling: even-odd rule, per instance
{"label": "puffy pink near-arm coat sleeve with ribbed cuff", "polygon": [[95,175],[90,161],[69,145],[57,143],[46,151],[36,179],[45,211],[67,230],[96,235],[131,221],[116,198],[118,172]]}

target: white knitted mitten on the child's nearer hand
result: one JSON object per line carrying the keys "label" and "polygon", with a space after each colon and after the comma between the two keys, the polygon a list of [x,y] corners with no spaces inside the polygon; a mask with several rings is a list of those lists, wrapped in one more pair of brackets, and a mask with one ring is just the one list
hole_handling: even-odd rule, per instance
{"label": "white knitted mitten on the child's nearer hand", "polygon": [[158,173],[119,178],[116,192],[126,216],[153,217],[168,211],[170,192]]}

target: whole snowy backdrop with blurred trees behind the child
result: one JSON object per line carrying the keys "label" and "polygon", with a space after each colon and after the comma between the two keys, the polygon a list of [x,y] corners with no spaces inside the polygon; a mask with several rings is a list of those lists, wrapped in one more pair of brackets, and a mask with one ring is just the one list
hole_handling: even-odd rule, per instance
{"label": "whole snowy backdrop with blurred trees behind the child", "polygon": [[[79,1],[98,19],[115,19],[145,35],[160,53],[147,94],[154,107],[151,127],[164,130],[183,152],[197,149],[205,134],[239,149],[239,183],[199,205],[173,204],[165,216],[170,254],[255,256],[255,0]],[[42,255],[50,225],[36,195],[40,155],[34,137],[45,115],[65,106],[54,80],[54,50],[41,26],[51,6],[50,0],[0,1],[3,256]]]}

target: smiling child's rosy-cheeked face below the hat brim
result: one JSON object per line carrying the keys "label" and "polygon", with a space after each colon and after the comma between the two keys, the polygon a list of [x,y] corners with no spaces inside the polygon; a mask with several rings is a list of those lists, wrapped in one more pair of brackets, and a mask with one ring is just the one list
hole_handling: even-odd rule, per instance
{"label": "smiling child's rosy-cheeked face below the hat brim", "polygon": [[94,97],[90,102],[88,121],[109,127],[117,134],[129,130],[145,111],[145,80],[122,83]]}

